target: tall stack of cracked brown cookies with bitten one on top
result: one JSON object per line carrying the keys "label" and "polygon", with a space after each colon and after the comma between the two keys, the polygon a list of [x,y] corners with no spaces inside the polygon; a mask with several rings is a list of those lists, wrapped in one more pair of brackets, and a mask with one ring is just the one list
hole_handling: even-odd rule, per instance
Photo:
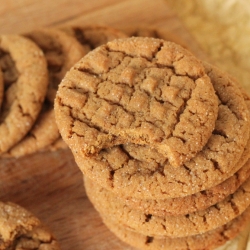
{"label": "tall stack of cracked brown cookies with bitten one on top", "polygon": [[249,97],[181,46],[132,37],[59,85],[60,133],[104,223],[140,249],[213,249],[250,217]]}

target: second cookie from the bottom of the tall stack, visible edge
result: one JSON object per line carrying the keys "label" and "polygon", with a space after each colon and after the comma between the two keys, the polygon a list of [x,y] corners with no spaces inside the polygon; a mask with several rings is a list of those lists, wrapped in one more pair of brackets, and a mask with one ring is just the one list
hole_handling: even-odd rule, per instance
{"label": "second cookie from the bottom of the tall stack, visible edge", "polygon": [[133,231],[157,237],[186,237],[213,230],[242,214],[250,205],[250,178],[235,193],[205,210],[164,217],[126,206],[114,193],[87,178],[84,183],[86,193],[99,213]]}

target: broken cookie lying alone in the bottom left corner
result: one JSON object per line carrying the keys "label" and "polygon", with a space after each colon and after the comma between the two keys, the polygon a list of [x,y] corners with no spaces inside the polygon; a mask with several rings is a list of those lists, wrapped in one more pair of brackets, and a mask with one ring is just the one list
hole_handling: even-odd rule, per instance
{"label": "broken cookie lying alone in the bottom left corner", "polygon": [[0,249],[59,250],[59,244],[41,221],[25,208],[0,202]]}

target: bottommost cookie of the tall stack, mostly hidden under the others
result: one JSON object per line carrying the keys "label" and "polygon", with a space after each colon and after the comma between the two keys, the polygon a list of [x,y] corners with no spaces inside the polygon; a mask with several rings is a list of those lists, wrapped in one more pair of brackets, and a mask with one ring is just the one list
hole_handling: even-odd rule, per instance
{"label": "bottommost cookie of the tall stack, mostly hidden under the others", "polygon": [[212,250],[222,246],[227,241],[236,237],[244,230],[250,219],[250,209],[248,208],[242,215],[229,223],[208,231],[204,234],[188,237],[153,237],[133,232],[129,228],[119,225],[102,215],[106,226],[122,241],[143,250]]}

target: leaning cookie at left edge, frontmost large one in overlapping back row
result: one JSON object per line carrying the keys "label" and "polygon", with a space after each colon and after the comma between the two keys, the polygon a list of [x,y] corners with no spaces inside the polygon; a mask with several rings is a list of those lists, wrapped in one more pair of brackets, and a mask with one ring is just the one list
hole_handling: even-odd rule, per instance
{"label": "leaning cookie at left edge, frontmost large one in overlapping back row", "polygon": [[0,116],[0,153],[19,142],[33,126],[48,85],[43,52],[19,35],[0,36],[4,100]]}

